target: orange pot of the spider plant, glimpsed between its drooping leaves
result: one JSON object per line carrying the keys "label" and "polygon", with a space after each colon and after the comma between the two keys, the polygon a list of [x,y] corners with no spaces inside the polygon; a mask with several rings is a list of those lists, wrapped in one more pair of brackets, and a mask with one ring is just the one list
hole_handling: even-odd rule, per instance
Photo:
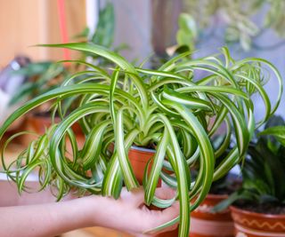
{"label": "orange pot of the spider plant, glimpsed between its drooping leaves", "polygon": [[[128,152],[128,158],[131,162],[131,165],[134,169],[134,175],[137,178],[137,180],[142,185],[142,179],[143,179],[143,173],[144,168],[146,167],[147,163],[151,159],[151,157],[155,154],[155,150],[152,149],[146,149],[141,148],[137,146],[132,146],[131,149]],[[150,165],[151,168],[151,165]],[[161,186],[161,179],[159,179],[158,186]],[[156,208],[154,208],[156,209]],[[156,237],[175,237],[178,236],[178,228],[176,228],[174,231],[169,231],[166,233],[159,233],[155,235]]]}

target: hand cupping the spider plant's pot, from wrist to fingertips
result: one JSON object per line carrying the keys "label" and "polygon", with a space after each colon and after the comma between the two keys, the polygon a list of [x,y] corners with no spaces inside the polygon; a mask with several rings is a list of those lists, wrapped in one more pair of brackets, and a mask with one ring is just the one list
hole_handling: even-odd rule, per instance
{"label": "hand cupping the spider plant's pot, from wrist to fingertips", "polygon": [[[170,188],[158,188],[156,195],[160,199],[171,199],[175,196],[175,191]],[[117,229],[135,236],[147,236],[143,234],[145,231],[162,225],[179,215],[178,201],[162,210],[149,209],[145,206],[142,187],[132,192],[123,189],[118,200],[101,196],[90,196],[88,199],[95,205],[93,225]],[[169,226],[159,233],[173,230],[176,227],[177,225]]]}

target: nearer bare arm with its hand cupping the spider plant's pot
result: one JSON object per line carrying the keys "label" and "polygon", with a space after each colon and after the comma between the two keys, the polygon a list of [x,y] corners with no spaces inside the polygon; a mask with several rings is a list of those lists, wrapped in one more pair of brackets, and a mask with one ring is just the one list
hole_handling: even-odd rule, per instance
{"label": "nearer bare arm with its hand cupping the spider plant's pot", "polygon": [[[171,189],[159,189],[159,198],[173,197]],[[169,195],[170,194],[170,195]],[[142,188],[126,192],[118,200],[91,195],[71,201],[0,208],[0,236],[50,237],[88,226],[104,226],[128,233],[143,233],[178,216],[179,205],[150,210],[143,205]]]}

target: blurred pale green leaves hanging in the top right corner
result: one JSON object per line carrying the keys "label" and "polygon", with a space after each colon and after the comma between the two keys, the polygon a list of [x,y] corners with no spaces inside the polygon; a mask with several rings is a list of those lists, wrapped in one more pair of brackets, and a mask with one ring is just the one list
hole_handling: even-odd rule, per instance
{"label": "blurred pale green leaves hanging in the top right corner", "polygon": [[[282,0],[184,0],[185,12],[191,14],[199,28],[216,28],[214,16],[220,14],[225,24],[225,42],[240,42],[244,50],[251,48],[252,40],[266,28],[273,28],[284,37],[285,2]],[[262,26],[252,19],[257,12],[266,8]],[[192,39],[191,39],[192,40]]]}

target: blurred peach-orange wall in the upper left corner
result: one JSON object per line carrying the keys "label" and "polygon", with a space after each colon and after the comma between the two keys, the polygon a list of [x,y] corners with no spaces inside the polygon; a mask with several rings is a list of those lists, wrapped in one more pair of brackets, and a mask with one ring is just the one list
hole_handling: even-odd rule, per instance
{"label": "blurred peach-orange wall in the upper left corner", "polygon": [[[69,39],[85,28],[85,0],[65,0]],[[61,43],[57,0],[0,1],[0,67],[16,55],[33,60],[62,59],[62,51],[29,47]]]}

